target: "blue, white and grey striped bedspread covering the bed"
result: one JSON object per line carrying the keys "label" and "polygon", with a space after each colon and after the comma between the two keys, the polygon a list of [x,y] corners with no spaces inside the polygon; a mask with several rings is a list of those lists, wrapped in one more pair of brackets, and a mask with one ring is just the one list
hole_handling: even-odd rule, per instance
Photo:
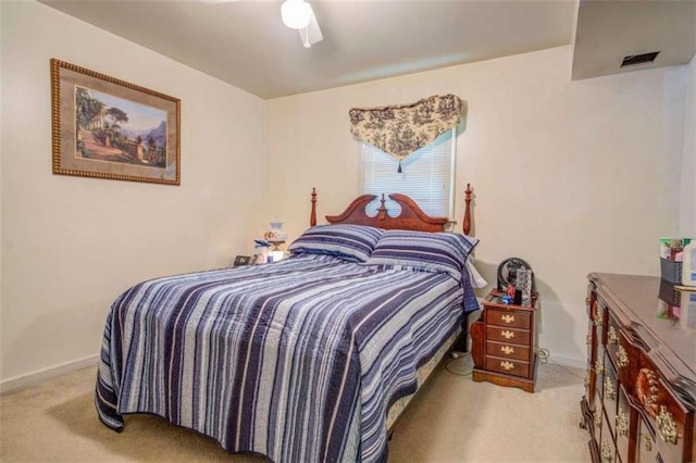
{"label": "blue, white and grey striped bedspread covering the bed", "polygon": [[152,413],[275,462],[384,461],[388,406],[472,297],[448,274],[319,255],[144,281],[108,315],[97,411],[115,430]]}

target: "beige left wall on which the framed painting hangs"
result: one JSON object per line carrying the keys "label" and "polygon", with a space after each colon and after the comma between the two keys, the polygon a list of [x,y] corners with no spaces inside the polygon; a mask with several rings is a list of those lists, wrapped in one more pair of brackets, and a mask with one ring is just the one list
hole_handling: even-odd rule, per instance
{"label": "beige left wall on which the framed painting hangs", "polygon": [[[154,276],[249,252],[265,101],[35,2],[2,2],[0,386],[94,363],[109,305]],[[182,100],[182,185],[51,174],[49,60]],[[36,378],[36,375],[34,376]]]}

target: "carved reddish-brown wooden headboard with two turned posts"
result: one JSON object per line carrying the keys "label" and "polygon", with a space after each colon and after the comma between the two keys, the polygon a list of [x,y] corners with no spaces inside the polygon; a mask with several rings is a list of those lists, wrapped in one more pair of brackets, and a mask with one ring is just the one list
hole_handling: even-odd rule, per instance
{"label": "carved reddish-brown wooden headboard with two turned posts", "polygon": [[[471,186],[467,184],[464,197],[464,222],[462,232],[469,235],[471,232]],[[326,215],[330,224],[356,224],[371,225],[385,229],[410,229],[420,232],[443,232],[447,227],[447,217],[431,217],[419,208],[419,205],[406,195],[391,193],[389,198],[401,207],[401,214],[389,215],[385,207],[385,198],[382,195],[380,208],[375,216],[365,213],[365,207],[377,198],[375,195],[362,195],[356,198],[346,210],[338,215]],[[309,218],[310,226],[316,225],[316,189],[312,188],[312,211]]]}

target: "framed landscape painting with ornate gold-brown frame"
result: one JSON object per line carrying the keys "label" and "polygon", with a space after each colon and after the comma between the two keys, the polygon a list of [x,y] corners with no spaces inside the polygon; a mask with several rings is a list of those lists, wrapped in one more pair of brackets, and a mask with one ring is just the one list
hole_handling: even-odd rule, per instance
{"label": "framed landscape painting with ornate gold-brown frame", "polygon": [[181,101],[51,59],[53,174],[181,184]]}

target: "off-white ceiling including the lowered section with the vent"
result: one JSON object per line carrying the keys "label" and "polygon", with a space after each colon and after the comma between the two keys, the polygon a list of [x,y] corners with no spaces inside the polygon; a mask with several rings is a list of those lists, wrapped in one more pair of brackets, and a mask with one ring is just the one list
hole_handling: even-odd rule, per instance
{"label": "off-white ceiling including the lowered section with the vent", "polygon": [[573,78],[696,52],[694,0],[310,0],[324,40],[309,49],[281,0],[40,1],[263,99],[573,42]]}

